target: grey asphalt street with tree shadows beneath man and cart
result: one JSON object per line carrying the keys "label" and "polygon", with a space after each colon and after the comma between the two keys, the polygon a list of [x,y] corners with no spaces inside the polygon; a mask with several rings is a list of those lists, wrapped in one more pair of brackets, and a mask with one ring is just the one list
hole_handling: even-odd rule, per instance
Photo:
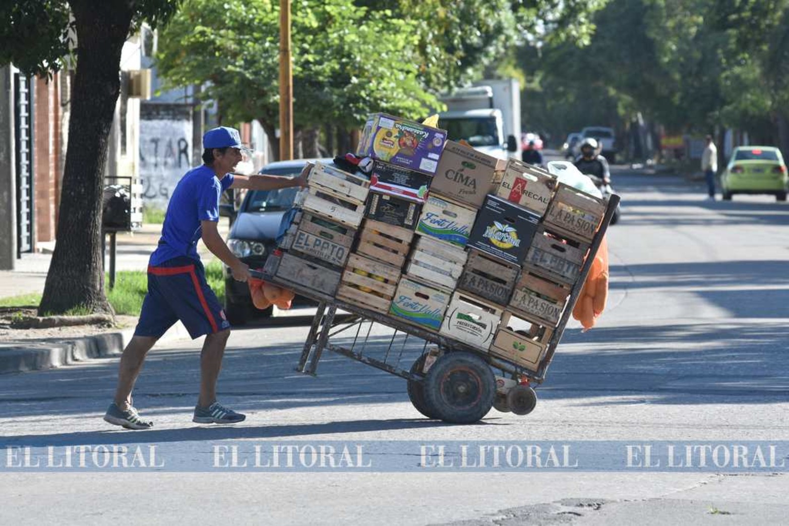
{"label": "grey asphalt street with tree shadows beneath man and cart", "polygon": [[[8,468],[24,464],[22,446],[158,444],[194,466],[195,457],[216,459],[217,446],[230,452],[241,444],[249,453],[279,442],[364,442],[373,455],[417,466],[419,450],[402,444],[789,441],[789,207],[767,196],[709,202],[701,185],[624,167],[614,177],[623,218],[609,230],[608,309],[589,332],[570,324],[529,416],[492,410],[467,426],[424,420],[404,380],[331,354],[316,377],[297,374],[308,332],[298,324],[231,334],[219,399],[247,413],[237,427],[191,422],[200,341],[170,343],[148,357],[135,405],[155,420],[151,431],[116,431],[101,420],[117,358],[3,375],[0,446],[14,453],[0,458],[0,522],[785,523],[786,468]],[[374,329],[376,336],[385,339]],[[411,350],[406,345],[404,363]]]}

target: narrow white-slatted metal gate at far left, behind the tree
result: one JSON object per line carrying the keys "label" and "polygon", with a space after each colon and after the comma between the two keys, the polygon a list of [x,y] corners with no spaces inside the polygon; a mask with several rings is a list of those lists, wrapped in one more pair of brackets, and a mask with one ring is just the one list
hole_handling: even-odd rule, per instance
{"label": "narrow white-slatted metal gate at far left, behind the tree", "polygon": [[27,76],[14,74],[17,153],[17,257],[33,252],[33,94]]}

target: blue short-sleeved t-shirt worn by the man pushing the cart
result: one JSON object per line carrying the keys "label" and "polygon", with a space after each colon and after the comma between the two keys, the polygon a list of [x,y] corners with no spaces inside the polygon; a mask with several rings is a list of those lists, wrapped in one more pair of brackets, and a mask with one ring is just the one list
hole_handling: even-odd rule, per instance
{"label": "blue short-sleeved t-shirt worn by the man pushing the cart", "polygon": [[186,172],[170,196],[159,247],[151,254],[149,263],[157,266],[178,256],[200,261],[197,255],[197,241],[203,235],[200,221],[219,221],[219,196],[232,184],[230,173],[219,181],[205,165]]}

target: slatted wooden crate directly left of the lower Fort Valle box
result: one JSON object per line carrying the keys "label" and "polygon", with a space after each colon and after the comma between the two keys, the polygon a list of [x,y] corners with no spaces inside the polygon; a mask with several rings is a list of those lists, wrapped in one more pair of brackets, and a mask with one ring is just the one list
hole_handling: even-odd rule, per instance
{"label": "slatted wooden crate directly left of the lower Fort Valle box", "polygon": [[337,298],[386,314],[399,278],[398,267],[351,254],[346,269],[342,272]]}

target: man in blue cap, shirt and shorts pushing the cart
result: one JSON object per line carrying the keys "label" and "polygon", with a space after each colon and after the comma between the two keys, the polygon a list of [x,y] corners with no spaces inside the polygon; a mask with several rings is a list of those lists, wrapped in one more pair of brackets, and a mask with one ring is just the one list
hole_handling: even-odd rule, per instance
{"label": "man in blue cap, shirt and shorts pushing the cart", "polygon": [[203,136],[203,148],[204,164],[185,173],[167,205],[162,237],[148,262],[148,294],[134,336],[121,356],[114,401],[104,415],[107,422],[127,429],[153,426],[134,408],[132,390],[148,351],[178,320],[193,339],[205,335],[200,353],[200,395],[193,422],[238,423],[245,419],[216,401],[216,381],[230,323],[206,282],[197,241],[202,239],[208,250],[230,267],[235,279],[247,281],[249,267],[230,252],[217,231],[219,196],[228,188],[273,190],[305,186],[306,178],[303,173],[293,178],[232,173],[245,149],[234,128],[208,130]]}

